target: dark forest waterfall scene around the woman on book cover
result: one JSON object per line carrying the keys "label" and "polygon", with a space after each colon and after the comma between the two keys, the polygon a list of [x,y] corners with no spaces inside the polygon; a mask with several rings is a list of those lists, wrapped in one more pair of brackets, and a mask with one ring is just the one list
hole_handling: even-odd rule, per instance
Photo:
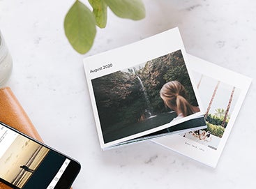
{"label": "dark forest waterfall scene around the woman on book cover", "polygon": [[186,93],[187,104],[195,107],[195,112],[199,111],[181,50],[98,77],[91,82],[105,143],[186,116],[170,108],[172,105],[166,103],[163,95],[160,96],[165,84],[179,84],[179,88],[182,87]]}

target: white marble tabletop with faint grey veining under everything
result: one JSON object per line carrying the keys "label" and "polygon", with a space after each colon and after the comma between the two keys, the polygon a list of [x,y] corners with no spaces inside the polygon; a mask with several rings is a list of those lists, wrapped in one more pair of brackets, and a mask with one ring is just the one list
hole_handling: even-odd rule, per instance
{"label": "white marble tabletop with faint grey veining under everything", "polygon": [[72,3],[1,0],[0,29],[14,65],[6,85],[45,143],[82,164],[73,188],[255,188],[254,82],[212,169],[151,142],[101,151],[82,59],[177,26],[188,53],[255,78],[256,1],[144,0],[144,20],[109,12],[107,28],[84,55],[63,31]]}

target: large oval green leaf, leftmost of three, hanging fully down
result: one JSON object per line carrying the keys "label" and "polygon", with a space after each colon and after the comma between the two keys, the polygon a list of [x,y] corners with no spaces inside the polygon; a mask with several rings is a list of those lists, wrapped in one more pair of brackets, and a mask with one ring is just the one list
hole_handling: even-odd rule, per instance
{"label": "large oval green leaf, leftmost of three, hanging fully down", "polygon": [[80,1],[75,1],[68,10],[64,20],[65,34],[72,47],[80,54],[85,54],[91,49],[96,36],[96,20]]}

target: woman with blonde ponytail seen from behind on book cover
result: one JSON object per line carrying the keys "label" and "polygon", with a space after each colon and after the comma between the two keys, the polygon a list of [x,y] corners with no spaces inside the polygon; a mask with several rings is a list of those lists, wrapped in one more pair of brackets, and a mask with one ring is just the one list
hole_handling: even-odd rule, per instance
{"label": "woman with blonde ponytail seen from behind on book cover", "polygon": [[185,87],[178,81],[167,82],[160,90],[160,97],[165,105],[173,109],[179,119],[195,112],[199,112],[199,107],[190,105],[187,100]]}

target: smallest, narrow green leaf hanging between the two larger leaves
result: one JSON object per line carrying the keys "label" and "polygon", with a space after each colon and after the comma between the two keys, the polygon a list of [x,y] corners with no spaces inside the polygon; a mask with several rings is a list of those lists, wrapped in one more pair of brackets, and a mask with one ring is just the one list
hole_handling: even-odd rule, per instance
{"label": "smallest, narrow green leaf hanging between the two larger leaves", "polygon": [[93,7],[97,26],[105,28],[107,24],[107,4],[103,0],[89,0],[89,3]]}

